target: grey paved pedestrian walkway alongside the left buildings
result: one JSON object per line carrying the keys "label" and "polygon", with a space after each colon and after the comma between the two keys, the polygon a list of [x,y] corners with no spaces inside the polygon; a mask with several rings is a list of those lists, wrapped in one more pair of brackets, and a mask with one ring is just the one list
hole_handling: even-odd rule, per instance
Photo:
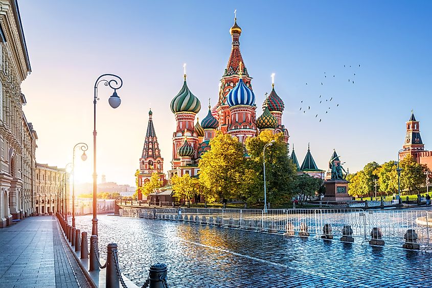
{"label": "grey paved pedestrian walkway alongside the left buildings", "polygon": [[89,287],[68,249],[52,216],[0,229],[0,287]]}

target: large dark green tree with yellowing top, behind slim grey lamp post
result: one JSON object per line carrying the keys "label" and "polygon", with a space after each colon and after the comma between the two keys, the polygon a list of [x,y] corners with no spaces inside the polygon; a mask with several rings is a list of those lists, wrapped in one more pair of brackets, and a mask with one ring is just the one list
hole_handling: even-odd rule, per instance
{"label": "large dark green tree with yellowing top, behind slim grey lamp post", "polygon": [[297,169],[289,159],[288,146],[282,133],[273,134],[271,131],[263,131],[258,137],[246,139],[246,150],[251,156],[247,162],[248,167],[255,171],[257,177],[254,190],[249,190],[249,200],[264,198],[264,167],[263,148],[270,141],[275,141],[265,151],[265,173],[267,198],[269,202],[278,203],[288,201],[291,197]]}

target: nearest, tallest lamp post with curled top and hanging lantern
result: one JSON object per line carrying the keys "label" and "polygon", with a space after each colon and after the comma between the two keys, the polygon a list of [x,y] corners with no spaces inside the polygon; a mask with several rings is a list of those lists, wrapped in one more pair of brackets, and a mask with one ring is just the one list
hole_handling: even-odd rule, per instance
{"label": "nearest, tallest lamp post with curled top and hanging lantern", "polygon": [[[112,79],[113,78],[113,79]],[[96,174],[96,103],[99,100],[98,98],[98,85],[99,83],[103,83],[105,86],[109,86],[114,90],[112,95],[108,99],[109,106],[112,108],[117,108],[120,106],[122,102],[119,95],[117,95],[116,90],[120,89],[123,85],[123,80],[114,74],[103,74],[99,76],[99,78],[95,82],[95,90],[94,90],[94,98],[93,98],[93,219],[92,219],[92,235],[98,235],[98,219],[97,219],[97,174]]]}

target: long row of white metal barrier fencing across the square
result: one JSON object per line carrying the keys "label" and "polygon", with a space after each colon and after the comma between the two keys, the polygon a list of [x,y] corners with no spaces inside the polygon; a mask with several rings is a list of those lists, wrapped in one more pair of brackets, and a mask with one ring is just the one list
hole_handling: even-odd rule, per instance
{"label": "long row of white metal barrier fencing across the square", "polygon": [[432,226],[416,222],[422,218],[425,220],[423,223],[428,223],[424,210],[325,208],[268,209],[265,212],[231,208],[124,208],[120,210],[120,215],[327,239],[348,237],[350,242],[354,239],[379,240],[388,245],[404,243],[432,248]]}

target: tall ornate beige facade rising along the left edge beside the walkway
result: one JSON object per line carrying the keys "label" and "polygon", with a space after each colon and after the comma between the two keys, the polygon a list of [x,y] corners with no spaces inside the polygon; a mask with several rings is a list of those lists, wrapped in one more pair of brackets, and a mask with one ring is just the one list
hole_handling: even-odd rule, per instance
{"label": "tall ornate beige facade rising along the left edge beside the walkway", "polygon": [[31,72],[17,2],[0,1],[0,227],[34,213],[37,135],[27,122],[21,82]]}

